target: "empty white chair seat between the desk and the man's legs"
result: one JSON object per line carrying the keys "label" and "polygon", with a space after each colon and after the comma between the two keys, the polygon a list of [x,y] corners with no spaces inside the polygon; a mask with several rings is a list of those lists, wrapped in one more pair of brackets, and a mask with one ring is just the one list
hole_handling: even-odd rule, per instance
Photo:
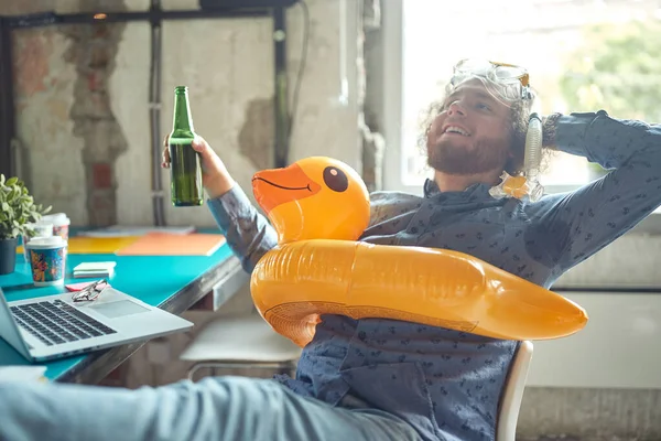
{"label": "empty white chair seat between the desk and the man's legs", "polygon": [[188,378],[203,368],[217,375],[218,369],[262,369],[293,374],[301,348],[278,334],[257,313],[220,315],[206,324],[184,348],[180,359],[194,362]]}

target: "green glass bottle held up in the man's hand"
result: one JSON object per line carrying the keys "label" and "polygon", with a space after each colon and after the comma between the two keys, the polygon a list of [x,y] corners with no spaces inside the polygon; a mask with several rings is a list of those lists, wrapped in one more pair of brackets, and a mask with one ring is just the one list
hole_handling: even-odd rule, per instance
{"label": "green glass bottle held up in the man's hand", "polygon": [[199,153],[191,146],[194,139],[195,129],[188,104],[188,88],[177,86],[174,88],[174,118],[169,144],[170,185],[174,206],[204,204]]}

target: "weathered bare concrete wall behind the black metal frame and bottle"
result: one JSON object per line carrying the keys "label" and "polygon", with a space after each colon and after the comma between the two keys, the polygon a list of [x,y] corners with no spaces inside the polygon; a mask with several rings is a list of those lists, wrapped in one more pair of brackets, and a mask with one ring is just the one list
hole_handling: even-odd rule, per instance
{"label": "weathered bare concrete wall behind the black metal frame and bottle", "polygon": [[[308,1],[306,69],[291,139],[291,160],[324,153],[359,168],[356,3]],[[144,10],[145,0],[0,2],[0,14]],[[165,0],[165,9],[197,9]],[[111,8],[111,9],[110,9]],[[344,17],[340,17],[343,14]],[[288,64],[293,93],[301,63],[302,10],[292,8]],[[340,45],[340,25],[346,45]],[[163,25],[162,131],[172,127],[173,88],[189,87],[196,131],[246,189],[272,166],[272,20],[208,19]],[[74,225],[151,225],[149,130],[150,26],[142,22],[63,25],[15,32],[18,137],[23,178],[39,201]],[[343,69],[344,68],[344,69]],[[347,99],[340,100],[340,82]],[[290,94],[291,95],[291,94]],[[169,178],[163,176],[167,189]],[[170,225],[214,225],[208,209],[173,208]]]}

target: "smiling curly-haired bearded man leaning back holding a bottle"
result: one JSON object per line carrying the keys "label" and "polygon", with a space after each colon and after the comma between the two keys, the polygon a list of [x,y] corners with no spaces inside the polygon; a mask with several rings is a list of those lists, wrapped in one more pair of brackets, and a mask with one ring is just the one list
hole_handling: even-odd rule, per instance
{"label": "smiling curly-haired bearded man leaning back holding a bottle", "polygon": [[[539,202],[491,196],[503,170],[520,172],[533,96],[527,77],[501,65],[458,67],[425,131],[435,171],[424,196],[373,194],[361,240],[464,251],[550,287],[661,204],[661,128],[604,111],[544,118],[544,143],[614,169],[607,176]],[[195,149],[209,208],[251,271],[275,234],[210,147],[199,139]],[[326,315],[296,378],[206,378],[137,391],[0,386],[0,439],[494,440],[517,347]]]}

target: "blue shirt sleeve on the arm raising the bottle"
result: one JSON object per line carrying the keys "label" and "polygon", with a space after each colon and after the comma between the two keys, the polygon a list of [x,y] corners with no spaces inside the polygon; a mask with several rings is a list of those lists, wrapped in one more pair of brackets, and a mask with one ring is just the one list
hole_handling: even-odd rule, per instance
{"label": "blue shirt sleeve on the arm raising the bottle", "polygon": [[268,219],[250,203],[239,185],[208,201],[208,207],[227,239],[227,244],[250,273],[271,248],[278,234]]}

